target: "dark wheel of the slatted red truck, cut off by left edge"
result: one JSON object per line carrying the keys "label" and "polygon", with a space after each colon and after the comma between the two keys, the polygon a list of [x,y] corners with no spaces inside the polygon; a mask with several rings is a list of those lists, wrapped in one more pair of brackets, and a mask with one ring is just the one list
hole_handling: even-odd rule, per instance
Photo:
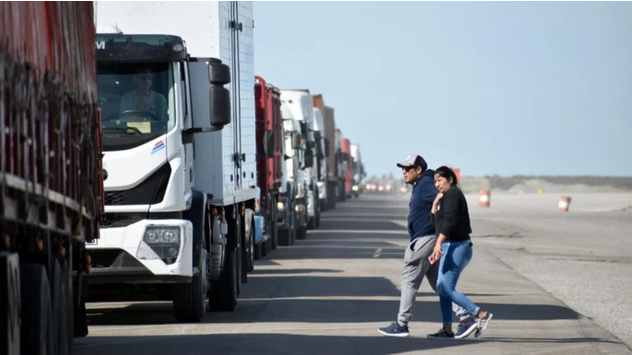
{"label": "dark wheel of the slatted red truck, cut off by left edge", "polygon": [[0,253],[0,354],[20,355],[20,258]]}

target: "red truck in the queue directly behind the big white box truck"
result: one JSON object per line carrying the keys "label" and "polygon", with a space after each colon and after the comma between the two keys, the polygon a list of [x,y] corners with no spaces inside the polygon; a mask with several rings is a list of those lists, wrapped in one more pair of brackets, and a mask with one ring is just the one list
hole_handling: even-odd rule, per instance
{"label": "red truck in the queue directly behind the big white box truck", "polygon": [[281,92],[260,76],[255,76],[255,115],[260,189],[258,215],[263,219],[262,238],[255,240],[255,257],[258,258],[278,245],[277,202],[283,183],[284,164]]}

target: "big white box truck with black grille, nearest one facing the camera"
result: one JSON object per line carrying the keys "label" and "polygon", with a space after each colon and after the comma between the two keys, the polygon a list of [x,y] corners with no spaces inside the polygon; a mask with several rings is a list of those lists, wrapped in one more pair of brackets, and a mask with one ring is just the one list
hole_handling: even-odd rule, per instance
{"label": "big white box truck with black grille, nearest one facing the camera", "polygon": [[[105,220],[89,296],[232,311],[253,267],[251,2],[97,2]],[[110,295],[111,296],[111,295]]]}

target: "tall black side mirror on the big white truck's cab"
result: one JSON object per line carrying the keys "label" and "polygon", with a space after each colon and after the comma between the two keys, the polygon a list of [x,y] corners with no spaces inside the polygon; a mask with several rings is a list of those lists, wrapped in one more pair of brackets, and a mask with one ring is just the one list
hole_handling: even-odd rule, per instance
{"label": "tall black side mirror on the big white truck's cab", "polygon": [[224,85],[230,83],[230,68],[219,59],[211,58],[208,64],[209,105],[211,126],[222,128],[230,124],[230,92]]}

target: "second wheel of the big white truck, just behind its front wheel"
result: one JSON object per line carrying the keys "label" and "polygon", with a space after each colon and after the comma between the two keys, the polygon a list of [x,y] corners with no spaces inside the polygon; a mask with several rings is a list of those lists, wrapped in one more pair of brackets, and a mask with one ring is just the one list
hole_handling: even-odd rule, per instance
{"label": "second wheel of the big white truck, just behind its front wheel", "polygon": [[213,312],[232,312],[237,307],[237,255],[226,251],[224,270],[218,281],[211,283],[209,301]]}

